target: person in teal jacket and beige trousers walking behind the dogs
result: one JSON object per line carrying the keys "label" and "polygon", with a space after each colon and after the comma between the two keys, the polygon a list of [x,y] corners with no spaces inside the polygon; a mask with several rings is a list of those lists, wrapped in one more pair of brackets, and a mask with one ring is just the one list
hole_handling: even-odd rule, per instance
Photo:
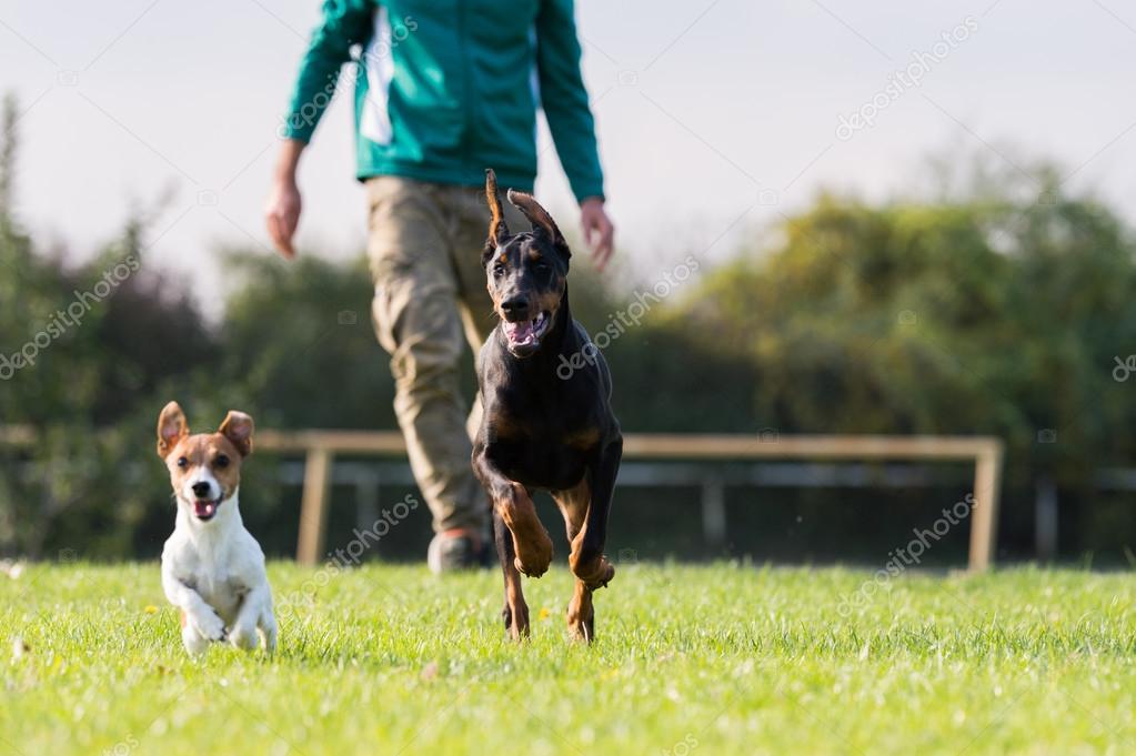
{"label": "person in teal jacket and beige trousers walking behind the dogs", "polygon": [[281,128],[265,220],[277,250],[293,258],[300,157],[335,96],[341,66],[354,61],[371,314],[391,355],[410,465],[434,520],[427,561],[435,572],[485,563],[490,553],[488,504],[469,462],[481,403],[467,413],[458,370],[462,342],[476,352],[496,325],[481,268],[485,169],[502,186],[532,192],[537,108],[596,267],[612,254],[579,58],[573,0],[326,0]]}

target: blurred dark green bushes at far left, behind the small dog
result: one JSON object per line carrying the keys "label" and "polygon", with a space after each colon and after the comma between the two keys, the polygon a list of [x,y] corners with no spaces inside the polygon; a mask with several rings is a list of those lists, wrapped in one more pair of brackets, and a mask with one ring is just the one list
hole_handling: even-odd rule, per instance
{"label": "blurred dark green bushes at far left, behind the small dog", "polygon": [[16,112],[9,100],[0,137],[0,423],[36,440],[0,447],[0,553],[132,553],[168,489],[150,397],[219,353],[189,300],[141,270],[144,216],[84,264],[35,249],[11,210]]}

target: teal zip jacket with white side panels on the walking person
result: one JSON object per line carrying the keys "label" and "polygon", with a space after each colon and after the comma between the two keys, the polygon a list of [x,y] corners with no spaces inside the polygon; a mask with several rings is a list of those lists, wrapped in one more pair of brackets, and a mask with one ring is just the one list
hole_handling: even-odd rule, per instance
{"label": "teal zip jacket with white side panels on the walking person", "polygon": [[358,176],[532,191],[536,108],[577,200],[603,196],[573,0],[325,0],[281,135],[307,142],[354,79]]}

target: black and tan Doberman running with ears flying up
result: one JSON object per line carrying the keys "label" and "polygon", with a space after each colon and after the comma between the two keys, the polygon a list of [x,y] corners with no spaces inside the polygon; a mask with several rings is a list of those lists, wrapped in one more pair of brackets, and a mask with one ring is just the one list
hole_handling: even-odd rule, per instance
{"label": "black and tan Doberman running with ears flying up", "polygon": [[[531,195],[509,190],[509,202],[532,224],[529,232],[510,234],[496,178],[492,170],[485,174],[492,219],[482,262],[501,321],[477,358],[485,414],[473,463],[493,503],[504,624],[516,639],[528,635],[520,573],[538,578],[552,561],[552,540],[536,516],[532,493],[549,490],[571,541],[568,563],[576,590],[568,629],[591,642],[592,591],[616,572],[603,555],[624,448],[611,412],[611,373],[573,320],[566,280],[571,253],[557,224]],[[565,360],[583,367],[565,378],[557,370]]]}

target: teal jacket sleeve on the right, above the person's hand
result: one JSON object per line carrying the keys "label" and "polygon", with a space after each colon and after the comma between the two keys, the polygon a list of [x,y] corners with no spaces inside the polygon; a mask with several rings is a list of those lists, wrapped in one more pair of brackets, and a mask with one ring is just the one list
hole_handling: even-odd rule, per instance
{"label": "teal jacket sleeve on the right, above the person's hand", "polygon": [[603,196],[595,123],[579,73],[579,56],[573,0],[542,0],[536,17],[541,106],[577,201]]}

